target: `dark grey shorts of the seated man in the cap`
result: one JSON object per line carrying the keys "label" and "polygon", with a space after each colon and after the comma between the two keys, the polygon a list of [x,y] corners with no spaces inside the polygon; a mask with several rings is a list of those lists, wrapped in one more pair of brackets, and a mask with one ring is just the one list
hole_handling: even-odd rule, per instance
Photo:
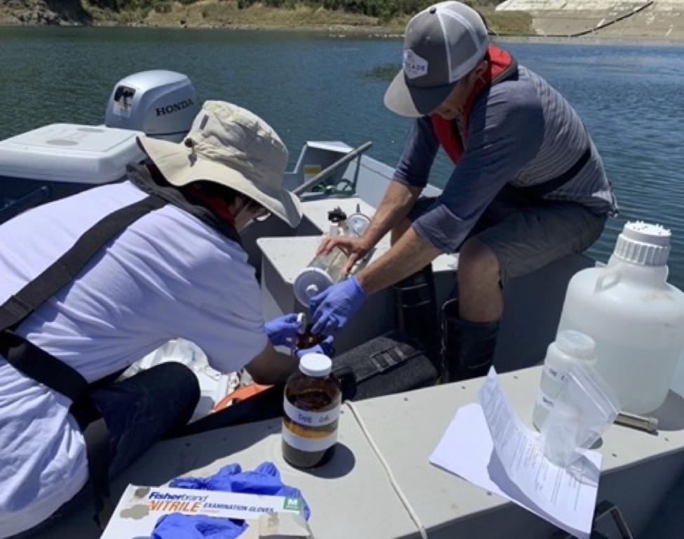
{"label": "dark grey shorts of the seated man in the cap", "polygon": [[[421,197],[408,218],[425,213],[435,199]],[[601,236],[606,215],[576,202],[531,201],[513,188],[502,189],[468,238],[476,237],[496,255],[501,283],[538,270],[570,253],[581,253]]]}

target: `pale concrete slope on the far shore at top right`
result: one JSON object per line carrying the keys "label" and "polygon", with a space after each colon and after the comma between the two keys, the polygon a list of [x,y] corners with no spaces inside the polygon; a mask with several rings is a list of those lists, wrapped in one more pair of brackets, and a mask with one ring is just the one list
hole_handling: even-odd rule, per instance
{"label": "pale concrete slope on the far shore at top right", "polygon": [[539,36],[684,39],[684,0],[506,0],[497,11],[526,11]]}

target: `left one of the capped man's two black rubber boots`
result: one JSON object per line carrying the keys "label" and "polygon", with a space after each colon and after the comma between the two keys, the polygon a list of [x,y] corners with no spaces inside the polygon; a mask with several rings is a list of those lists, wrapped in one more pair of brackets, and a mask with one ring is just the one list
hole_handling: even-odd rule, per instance
{"label": "left one of the capped man's two black rubber boots", "polygon": [[437,300],[431,264],[394,285],[394,305],[398,330],[420,342],[438,375],[442,375]]}

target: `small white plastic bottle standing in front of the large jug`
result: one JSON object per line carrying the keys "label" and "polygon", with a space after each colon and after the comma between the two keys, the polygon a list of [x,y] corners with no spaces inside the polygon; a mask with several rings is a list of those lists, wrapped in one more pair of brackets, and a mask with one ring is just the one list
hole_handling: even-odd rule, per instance
{"label": "small white plastic bottle standing in front of the large jug", "polygon": [[554,407],[554,401],[561,391],[563,376],[568,373],[572,364],[582,364],[589,367],[596,366],[594,340],[579,331],[561,331],[556,340],[551,342],[546,350],[542,380],[539,382],[539,392],[532,414],[537,430],[542,429],[542,423]]}

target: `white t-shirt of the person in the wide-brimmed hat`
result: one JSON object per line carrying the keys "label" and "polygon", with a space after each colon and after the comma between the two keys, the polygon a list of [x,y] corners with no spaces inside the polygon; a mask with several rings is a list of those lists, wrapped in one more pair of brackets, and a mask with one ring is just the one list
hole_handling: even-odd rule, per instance
{"label": "white t-shirt of the person in the wide-brimmed hat", "polygon": [[[86,229],[145,197],[124,182],[40,206],[0,226],[0,304],[65,253]],[[88,381],[119,371],[170,338],[236,371],[262,352],[260,291],[234,241],[175,206],[130,225],[18,333]],[[35,526],[88,476],[71,401],[0,356],[0,537]]]}

